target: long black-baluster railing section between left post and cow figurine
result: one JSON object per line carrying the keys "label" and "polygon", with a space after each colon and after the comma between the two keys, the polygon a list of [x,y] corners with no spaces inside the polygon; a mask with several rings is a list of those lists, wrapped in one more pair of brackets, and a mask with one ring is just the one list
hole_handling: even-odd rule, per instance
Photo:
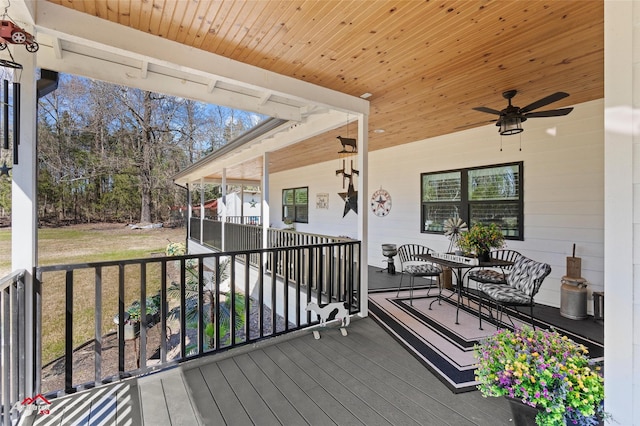
{"label": "long black-baluster railing section between left post and cow figurine", "polygon": [[[360,258],[360,242],[349,240],[36,268],[45,306],[49,291],[64,292],[64,346],[45,365],[63,365],[64,377],[43,393],[73,393],[307,327],[317,322],[305,310],[311,301],[345,302],[355,314]],[[147,314],[133,320],[133,306]],[[128,334],[132,324],[139,330]],[[117,351],[117,365],[106,365],[107,350]],[[88,379],[74,363],[87,352]]]}

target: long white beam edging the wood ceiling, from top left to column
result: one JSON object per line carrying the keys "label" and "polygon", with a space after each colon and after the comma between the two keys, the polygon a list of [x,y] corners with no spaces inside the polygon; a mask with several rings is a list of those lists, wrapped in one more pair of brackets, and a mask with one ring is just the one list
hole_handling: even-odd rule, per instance
{"label": "long white beam edging the wood ceiling, from top left to column", "polygon": [[84,44],[97,51],[146,60],[254,90],[315,103],[341,111],[368,113],[369,102],[335,90],[283,76],[205,52],[124,25],[77,12],[48,1],[37,2],[38,33]]}

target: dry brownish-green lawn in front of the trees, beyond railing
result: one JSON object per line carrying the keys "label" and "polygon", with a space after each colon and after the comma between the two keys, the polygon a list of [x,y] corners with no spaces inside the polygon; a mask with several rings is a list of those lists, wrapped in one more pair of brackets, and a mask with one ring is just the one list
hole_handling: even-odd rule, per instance
{"label": "dry brownish-green lawn in front of the trees, beyond railing", "polygon": [[[38,264],[82,264],[88,262],[149,258],[164,254],[169,241],[184,241],[185,229],[130,229],[119,224],[86,224],[38,231]],[[11,230],[0,230],[0,268],[11,272]],[[159,264],[147,270],[147,294],[160,285]],[[140,267],[125,268],[125,300],[139,299]],[[95,335],[95,274],[93,269],[74,273],[74,347]],[[42,361],[46,364],[64,354],[65,274],[49,272],[42,277]],[[118,268],[102,271],[102,334],[114,331],[118,310]]]}

